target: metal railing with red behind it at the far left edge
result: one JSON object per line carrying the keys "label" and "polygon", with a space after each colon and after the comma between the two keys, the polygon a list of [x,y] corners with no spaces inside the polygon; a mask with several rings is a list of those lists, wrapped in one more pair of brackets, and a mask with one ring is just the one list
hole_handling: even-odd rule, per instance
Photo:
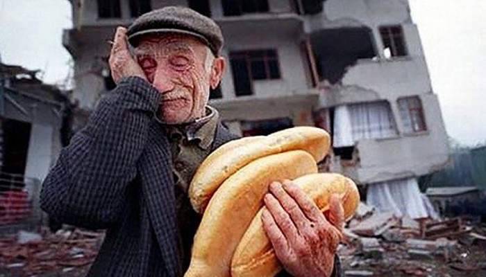
{"label": "metal railing with red behind it at the far left edge", "polygon": [[24,175],[0,172],[0,227],[40,225],[40,181]]}

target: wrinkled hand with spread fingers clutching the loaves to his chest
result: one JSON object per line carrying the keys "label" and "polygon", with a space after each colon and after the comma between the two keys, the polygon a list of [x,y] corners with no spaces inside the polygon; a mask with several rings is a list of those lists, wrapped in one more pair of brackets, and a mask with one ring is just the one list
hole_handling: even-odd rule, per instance
{"label": "wrinkled hand with spread fingers clutching the loaves to his chest", "polygon": [[296,277],[330,276],[344,224],[340,197],[330,197],[328,221],[291,181],[272,183],[270,192],[262,221],[278,260]]}

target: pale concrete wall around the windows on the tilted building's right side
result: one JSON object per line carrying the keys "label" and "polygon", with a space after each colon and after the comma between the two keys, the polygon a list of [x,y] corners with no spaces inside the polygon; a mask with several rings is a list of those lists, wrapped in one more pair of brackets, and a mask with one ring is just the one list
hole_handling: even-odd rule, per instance
{"label": "pale concrete wall around the windows on the tilted building's right side", "polygon": [[[327,35],[322,30],[350,27],[371,30],[376,57],[356,60],[346,67],[339,82],[324,84],[319,107],[386,100],[398,129],[393,138],[358,141],[356,153],[360,162],[351,168],[340,165],[334,168],[353,175],[362,184],[418,177],[442,168],[449,159],[447,134],[408,1],[328,0],[324,11],[308,17],[305,26],[310,32],[320,34],[321,39]],[[385,55],[381,26],[401,27],[406,55]],[[397,100],[406,96],[421,99],[425,132],[405,134]],[[340,163],[339,159],[335,162]]]}

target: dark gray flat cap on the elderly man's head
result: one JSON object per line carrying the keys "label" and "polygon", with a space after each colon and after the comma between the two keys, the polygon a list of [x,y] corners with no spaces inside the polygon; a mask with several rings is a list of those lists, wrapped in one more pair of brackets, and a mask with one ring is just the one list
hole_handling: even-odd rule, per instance
{"label": "dark gray flat cap on the elderly man's head", "polygon": [[137,46],[142,35],[153,33],[183,33],[193,35],[208,45],[212,53],[219,55],[223,47],[223,35],[216,22],[190,8],[169,6],[141,15],[126,35],[131,45]]}

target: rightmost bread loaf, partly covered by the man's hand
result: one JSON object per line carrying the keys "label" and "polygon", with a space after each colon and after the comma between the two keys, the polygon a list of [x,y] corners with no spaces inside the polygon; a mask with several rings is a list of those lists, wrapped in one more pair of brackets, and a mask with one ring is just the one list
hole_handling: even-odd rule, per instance
{"label": "rightmost bread loaf, partly covered by the man's hand", "polygon": [[[314,200],[321,211],[328,210],[330,195],[342,196],[344,217],[349,220],[360,203],[358,188],[351,179],[333,173],[305,175],[294,180],[294,184]],[[280,271],[274,249],[262,226],[262,210],[253,218],[233,255],[232,277],[271,277]]]}

